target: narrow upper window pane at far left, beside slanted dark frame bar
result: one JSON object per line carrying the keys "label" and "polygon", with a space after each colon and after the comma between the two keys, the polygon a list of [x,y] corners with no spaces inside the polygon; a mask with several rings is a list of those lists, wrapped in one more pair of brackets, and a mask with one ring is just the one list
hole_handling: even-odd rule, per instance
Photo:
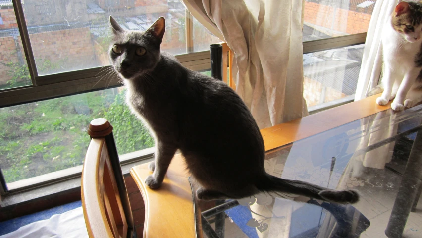
{"label": "narrow upper window pane at far left, beside slanted dark frame bar", "polygon": [[12,1],[0,4],[0,90],[32,85]]}

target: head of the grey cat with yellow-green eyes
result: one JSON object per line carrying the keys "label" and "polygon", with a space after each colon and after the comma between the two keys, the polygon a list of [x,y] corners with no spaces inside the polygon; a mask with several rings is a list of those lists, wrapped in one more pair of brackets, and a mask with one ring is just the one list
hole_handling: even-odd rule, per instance
{"label": "head of the grey cat with yellow-green eyes", "polygon": [[109,58],[115,71],[124,79],[134,79],[152,70],[160,57],[164,18],[158,18],[145,32],[126,31],[111,16],[110,23],[114,37]]}

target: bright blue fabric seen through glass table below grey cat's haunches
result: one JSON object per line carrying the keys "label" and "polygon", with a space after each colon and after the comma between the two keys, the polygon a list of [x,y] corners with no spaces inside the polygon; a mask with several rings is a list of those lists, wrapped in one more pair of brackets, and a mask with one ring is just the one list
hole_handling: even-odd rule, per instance
{"label": "bright blue fabric seen through glass table below grey cat's haunches", "polygon": [[257,230],[254,227],[246,225],[252,219],[252,213],[246,206],[235,206],[226,210],[226,214],[249,238],[259,238]]}

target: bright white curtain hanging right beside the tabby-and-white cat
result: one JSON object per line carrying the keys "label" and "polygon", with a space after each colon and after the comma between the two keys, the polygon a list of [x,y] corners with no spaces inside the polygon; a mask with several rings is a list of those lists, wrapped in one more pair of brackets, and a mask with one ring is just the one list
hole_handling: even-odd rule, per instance
{"label": "bright white curtain hanging right beside the tabby-and-white cat", "polygon": [[381,33],[391,13],[401,0],[377,0],[369,22],[364,56],[359,72],[355,101],[365,98],[380,80],[382,68]]}

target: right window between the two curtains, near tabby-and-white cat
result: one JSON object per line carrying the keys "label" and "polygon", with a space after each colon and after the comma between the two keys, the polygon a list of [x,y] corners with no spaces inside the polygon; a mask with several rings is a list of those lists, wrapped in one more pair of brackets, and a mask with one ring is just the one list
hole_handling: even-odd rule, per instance
{"label": "right window between the two curtains, near tabby-and-white cat", "polygon": [[309,110],[353,101],[375,1],[304,4],[304,97]]}

